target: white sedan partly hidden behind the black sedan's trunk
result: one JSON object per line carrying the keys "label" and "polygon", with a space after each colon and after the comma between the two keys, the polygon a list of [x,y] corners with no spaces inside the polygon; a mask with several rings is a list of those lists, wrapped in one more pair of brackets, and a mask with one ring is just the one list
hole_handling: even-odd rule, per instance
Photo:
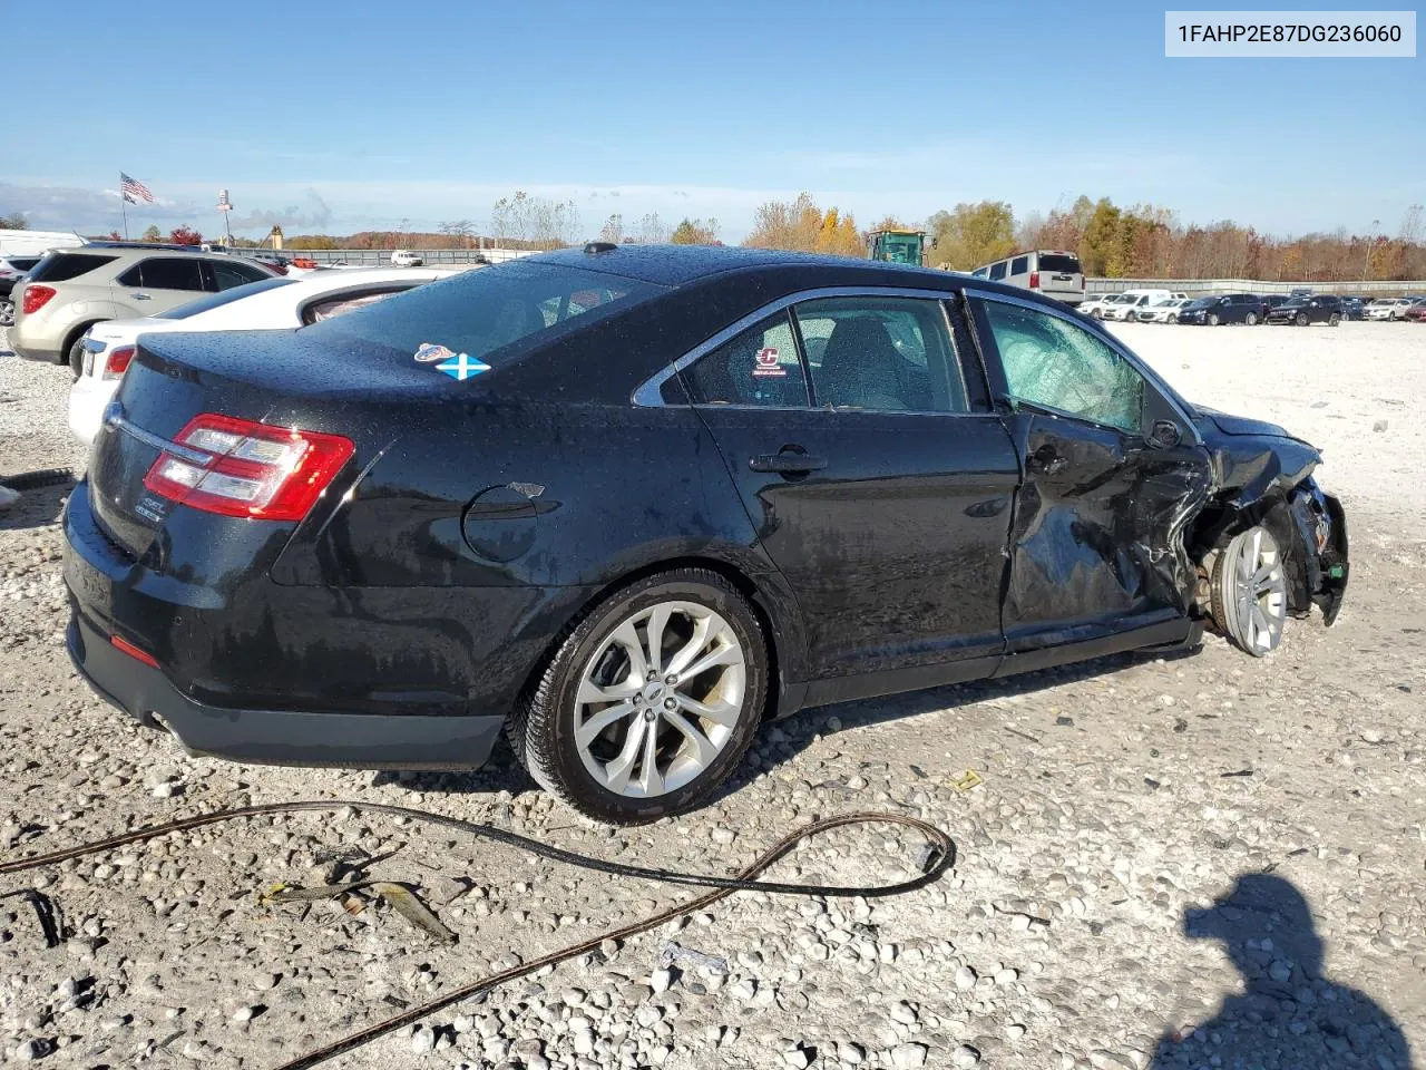
{"label": "white sedan partly hidden behind the black sedan's trunk", "polygon": [[84,445],[98,434],[140,335],[167,331],[272,331],[305,327],[458,274],[455,268],[355,268],[261,282],[200,297],[143,320],[107,320],[84,335],[84,368],[70,388],[70,431]]}

